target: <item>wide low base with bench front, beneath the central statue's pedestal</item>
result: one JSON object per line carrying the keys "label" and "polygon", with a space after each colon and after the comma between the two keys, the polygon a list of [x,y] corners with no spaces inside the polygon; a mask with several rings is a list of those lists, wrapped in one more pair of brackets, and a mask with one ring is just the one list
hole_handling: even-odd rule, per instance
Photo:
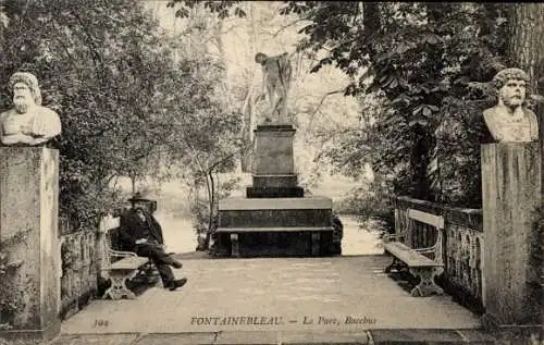
{"label": "wide low base with bench front, beneath the central statue's pedestal", "polygon": [[218,251],[233,257],[334,255],[332,200],[228,198],[219,205]]}

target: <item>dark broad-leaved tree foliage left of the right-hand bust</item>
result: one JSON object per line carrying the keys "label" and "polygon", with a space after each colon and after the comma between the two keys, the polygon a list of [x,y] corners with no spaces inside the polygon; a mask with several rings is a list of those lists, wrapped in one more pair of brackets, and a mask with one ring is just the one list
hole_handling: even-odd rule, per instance
{"label": "dark broad-leaved tree foliage left of the right-hand bust", "polygon": [[346,95],[380,100],[371,121],[329,156],[346,170],[370,163],[395,193],[478,206],[480,112],[489,100],[469,83],[486,82],[504,66],[505,11],[475,3],[287,2],[282,13],[311,21],[299,49],[326,51],[313,71],[333,64],[353,78]]}

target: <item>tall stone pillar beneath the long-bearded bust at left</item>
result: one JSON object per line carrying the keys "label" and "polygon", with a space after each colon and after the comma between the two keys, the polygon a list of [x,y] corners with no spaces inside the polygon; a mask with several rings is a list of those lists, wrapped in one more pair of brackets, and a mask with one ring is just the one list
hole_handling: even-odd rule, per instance
{"label": "tall stone pillar beneath the long-bearded bust at left", "polygon": [[11,328],[0,338],[44,341],[60,331],[58,196],[58,150],[0,148],[1,249],[21,263],[0,279],[15,307],[0,311]]}

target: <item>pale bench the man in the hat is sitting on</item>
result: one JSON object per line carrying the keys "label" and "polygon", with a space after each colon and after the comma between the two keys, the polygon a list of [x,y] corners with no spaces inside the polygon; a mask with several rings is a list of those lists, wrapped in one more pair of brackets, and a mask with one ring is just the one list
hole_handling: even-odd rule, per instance
{"label": "pale bench the man in the hat is sitting on", "polygon": [[146,257],[139,257],[136,252],[114,249],[116,238],[114,234],[119,231],[119,218],[110,218],[100,224],[101,242],[103,248],[102,275],[108,278],[111,286],[106,291],[102,298],[128,299],[136,298],[134,292],[126,282],[134,279],[138,273],[151,278],[154,266]]}

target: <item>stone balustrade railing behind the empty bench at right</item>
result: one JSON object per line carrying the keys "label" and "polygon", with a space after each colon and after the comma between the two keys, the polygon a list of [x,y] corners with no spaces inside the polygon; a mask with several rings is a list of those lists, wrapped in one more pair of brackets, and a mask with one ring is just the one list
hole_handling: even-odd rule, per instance
{"label": "stone balustrade railing behind the empty bench at right", "polygon": [[[483,312],[483,225],[482,210],[441,206],[410,197],[395,198],[395,232],[405,232],[406,245],[432,246],[436,230],[408,218],[408,209],[444,217],[444,275],[441,285],[466,307]],[[409,223],[411,222],[411,223]]]}

